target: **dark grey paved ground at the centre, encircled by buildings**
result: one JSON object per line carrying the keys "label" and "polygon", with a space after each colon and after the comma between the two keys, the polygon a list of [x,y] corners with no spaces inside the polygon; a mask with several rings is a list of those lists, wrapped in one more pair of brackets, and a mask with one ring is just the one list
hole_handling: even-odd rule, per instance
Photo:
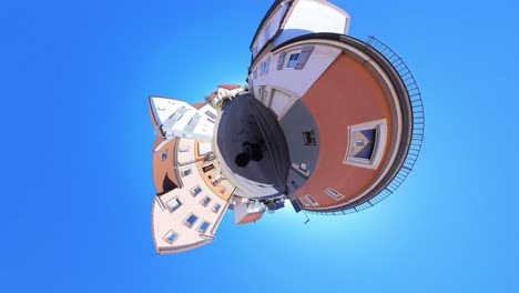
{"label": "dark grey paved ground at the centre, encircled by buildings", "polygon": [[[242,168],[235,158],[244,142],[257,143],[262,159]],[[253,198],[284,193],[289,169],[285,135],[271,110],[252,95],[242,94],[225,107],[216,144],[225,175],[242,192]]]}

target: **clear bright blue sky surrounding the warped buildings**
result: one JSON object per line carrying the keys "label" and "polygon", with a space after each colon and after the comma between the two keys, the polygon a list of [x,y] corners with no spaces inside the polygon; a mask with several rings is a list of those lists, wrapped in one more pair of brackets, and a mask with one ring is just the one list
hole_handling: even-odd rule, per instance
{"label": "clear bright blue sky surrounding the warped buildings", "polygon": [[362,213],[228,213],[215,242],[166,256],[146,98],[243,83],[271,1],[3,3],[0,291],[517,292],[518,2],[333,2],[420,85],[416,170]]}

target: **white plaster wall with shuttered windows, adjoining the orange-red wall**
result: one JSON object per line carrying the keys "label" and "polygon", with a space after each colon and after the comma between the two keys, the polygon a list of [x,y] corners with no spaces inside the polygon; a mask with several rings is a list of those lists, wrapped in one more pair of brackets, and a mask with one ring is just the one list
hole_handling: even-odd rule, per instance
{"label": "white plaster wall with shuttered windows, adjoining the orange-red wall", "polygon": [[[264,75],[258,74],[257,79],[253,80],[253,91],[257,99],[258,85],[271,85],[281,89],[287,89],[296,93],[299,98],[303,97],[305,92],[312,87],[312,84],[314,84],[314,82],[340,53],[340,49],[338,48],[315,44],[314,51],[309,55],[308,61],[302,70],[286,68],[286,63],[288,62],[291,53],[301,51],[305,44],[298,44],[286,50],[287,52],[283,63],[283,69],[281,70],[277,70],[277,59],[279,57],[279,52],[271,54],[268,73]],[[261,62],[257,62],[256,67],[258,70],[261,65]]]}

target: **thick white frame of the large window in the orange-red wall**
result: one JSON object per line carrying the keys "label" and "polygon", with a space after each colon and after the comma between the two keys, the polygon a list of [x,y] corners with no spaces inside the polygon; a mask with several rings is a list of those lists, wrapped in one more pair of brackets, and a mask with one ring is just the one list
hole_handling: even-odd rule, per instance
{"label": "thick white frame of the large window in the orange-red wall", "polygon": [[[359,159],[349,156],[353,142],[353,133],[356,131],[372,130],[375,129],[375,144],[373,148],[373,153],[370,160]],[[346,154],[344,156],[343,163],[348,165],[355,165],[367,169],[377,169],[380,164],[381,158],[384,155],[384,150],[387,143],[387,120],[379,119],[375,121],[369,121],[356,125],[348,127],[348,144],[346,145]]]}

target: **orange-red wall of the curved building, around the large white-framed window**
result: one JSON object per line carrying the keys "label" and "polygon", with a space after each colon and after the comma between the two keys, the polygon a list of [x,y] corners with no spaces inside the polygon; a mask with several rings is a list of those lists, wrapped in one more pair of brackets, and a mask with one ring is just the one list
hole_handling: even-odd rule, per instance
{"label": "orange-red wall of the curved building, around the large white-framed window", "polygon": [[[324,192],[327,188],[345,196],[340,202],[348,202],[374,181],[381,166],[374,170],[343,163],[348,127],[387,119],[389,140],[393,118],[388,99],[373,73],[345,54],[323,73],[301,100],[317,123],[320,150],[313,174],[295,194],[298,199],[311,194],[319,206],[332,206],[339,202]],[[390,143],[386,143],[383,161]]]}

